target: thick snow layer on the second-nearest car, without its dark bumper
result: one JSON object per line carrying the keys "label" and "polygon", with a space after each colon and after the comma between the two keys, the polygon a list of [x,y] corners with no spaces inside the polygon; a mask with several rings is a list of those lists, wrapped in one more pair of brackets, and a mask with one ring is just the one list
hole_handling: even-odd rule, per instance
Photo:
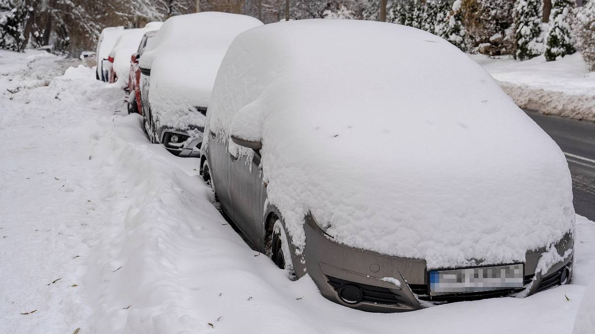
{"label": "thick snow layer on the second-nearest car, without its dark bumper", "polygon": [[149,102],[159,114],[158,127],[202,126],[204,116],[195,108],[209,106],[228,46],[242,31],[261,25],[256,18],[223,12],[168,18],[151,41],[151,51],[140,58],[140,67],[151,69]]}

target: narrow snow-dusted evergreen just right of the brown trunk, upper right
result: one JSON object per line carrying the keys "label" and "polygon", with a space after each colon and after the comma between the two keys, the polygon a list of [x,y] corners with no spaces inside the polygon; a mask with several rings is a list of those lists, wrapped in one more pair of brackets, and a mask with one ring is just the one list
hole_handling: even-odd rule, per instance
{"label": "narrow snow-dusted evergreen just right of the brown trunk, upper right", "polygon": [[552,0],[550,26],[547,30],[544,52],[547,61],[554,61],[558,56],[569,55],[576,51],[569,24],[569,15],[573,7],[574,0]]}

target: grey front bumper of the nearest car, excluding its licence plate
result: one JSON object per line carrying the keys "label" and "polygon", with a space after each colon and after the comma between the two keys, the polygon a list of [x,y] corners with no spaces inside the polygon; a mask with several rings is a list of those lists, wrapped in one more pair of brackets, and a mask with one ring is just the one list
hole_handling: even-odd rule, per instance
{"label": "grey front bumper of the nearest car, excluding its licence plate", "polygon": [[[429,295],[425,260],[386,256],[346,247],[324,235],[309,215],[306,216],[304,228],[305,259],[301,256],[293,259],[296,275],[308,272],[325,298],[362,311],[403,312],[453,301],[477,300],[515,293],[521,296],[531,295],[559,285],[560,276],[566,269],[567,273],[572,275],[573,253],[553,264],[544,275],[536,273],[541,254],[546,251],[543,248],[527,252],[524,263],[524,288],[432,297]],[[571,234],[565,235],[555,247],[560,256],[568,254],[566,251],[574,247]],[[566,280],[566,283],[568,282],[569,279]],[[361,290],[359,303],[346,303],[339,297],[339,292],[345,286],[357,286]]]}

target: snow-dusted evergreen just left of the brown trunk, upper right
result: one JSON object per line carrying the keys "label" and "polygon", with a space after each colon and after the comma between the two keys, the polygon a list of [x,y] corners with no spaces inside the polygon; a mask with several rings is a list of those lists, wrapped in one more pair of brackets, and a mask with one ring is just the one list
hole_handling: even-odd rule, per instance
{"label": "snow-dusted evergreen just left of the brown trunk, upper right", "polygon": [[517,0],[513,10],[515,19],[515,58],[530,59],[543,52],[541,39],[541,17],[543,2],[541,0]]}

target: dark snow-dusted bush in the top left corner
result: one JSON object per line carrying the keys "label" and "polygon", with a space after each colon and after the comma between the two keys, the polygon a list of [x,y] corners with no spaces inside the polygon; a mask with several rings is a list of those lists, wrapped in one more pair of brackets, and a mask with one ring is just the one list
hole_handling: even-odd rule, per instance
{"label": "dark snow-dusted bush in the top left corner", "polygon": [[22,51],[29,40],[25,26],[29,8],[24,0],[0,0],[0,49]]}

